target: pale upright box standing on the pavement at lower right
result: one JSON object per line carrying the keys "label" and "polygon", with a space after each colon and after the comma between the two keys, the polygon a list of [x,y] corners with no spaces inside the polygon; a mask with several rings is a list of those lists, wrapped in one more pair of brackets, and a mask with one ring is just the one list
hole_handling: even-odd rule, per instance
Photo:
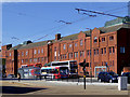
{"label": "pale upright box standing on the pavement at lower right", "polygon": [[127,91],[127,83],[128,83],[127,77],[119,77],[118,78],[118,91]]}

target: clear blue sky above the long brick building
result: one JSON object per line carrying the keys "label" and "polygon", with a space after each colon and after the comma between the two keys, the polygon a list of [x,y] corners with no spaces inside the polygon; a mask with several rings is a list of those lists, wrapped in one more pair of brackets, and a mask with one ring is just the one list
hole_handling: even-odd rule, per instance
{"label": "clear blue sky above the long brick building", "polygon": [[[17,45],[27,40],[35,42],[78,33],[86,28],[103,27],[115,17],[78,14],[76,8],[105,12],[118,16],[128,15],[127,2],[10,2],[2,4],[2,44]],[[92,14],[92,13],[88,13]],[[95,14],[92,14],[95,15]],[[58,20],[70,22],[66,25]],[[41,40],[39,38],[44,37]]]}

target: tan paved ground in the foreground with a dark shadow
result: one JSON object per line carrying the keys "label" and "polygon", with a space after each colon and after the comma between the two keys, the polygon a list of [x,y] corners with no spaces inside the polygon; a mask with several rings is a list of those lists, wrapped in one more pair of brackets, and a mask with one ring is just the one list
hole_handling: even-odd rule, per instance
{"label": "tan paved ground in the foreground with a dark shadow", "polygon": [[62,81],[2,81],[3,95],[128,95],[128,91],[118,91],[118,83]]}

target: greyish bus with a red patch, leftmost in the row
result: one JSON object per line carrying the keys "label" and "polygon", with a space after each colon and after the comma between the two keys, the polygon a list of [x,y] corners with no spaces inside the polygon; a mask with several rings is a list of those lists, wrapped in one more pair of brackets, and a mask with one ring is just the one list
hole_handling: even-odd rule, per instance
{"label": "greyish bus with a red patch, leftmost in the row", "polygon": [[18,73],[22,79],[37,79],[41,75],[41,68],[39,67],[22,67],[18,68]]}

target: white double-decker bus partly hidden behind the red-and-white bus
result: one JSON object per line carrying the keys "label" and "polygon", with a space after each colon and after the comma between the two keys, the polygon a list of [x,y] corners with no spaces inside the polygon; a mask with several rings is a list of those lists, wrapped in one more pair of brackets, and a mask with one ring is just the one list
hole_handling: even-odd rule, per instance
{"label": "white double-decker bus partly hidden behind the red-and-white bus", "polygon": [[78,65],[77,60],[65,60],[65,61],[52,61],[51,67],[68,67],[69,70],[69,78],[77,78],[78,77]]}

